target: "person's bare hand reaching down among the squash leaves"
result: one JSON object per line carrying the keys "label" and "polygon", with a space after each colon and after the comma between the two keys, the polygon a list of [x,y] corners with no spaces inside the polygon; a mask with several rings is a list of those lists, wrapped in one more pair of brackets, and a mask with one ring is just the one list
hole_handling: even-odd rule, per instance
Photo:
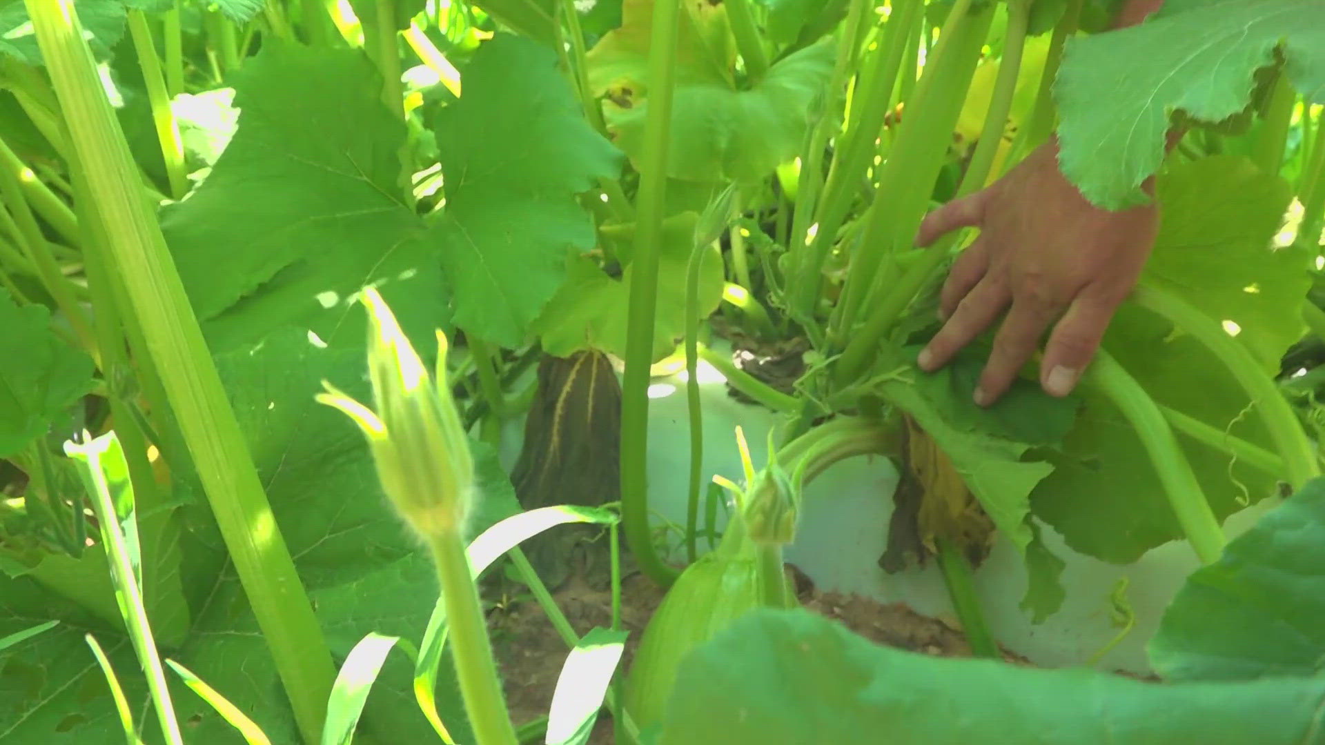
{"label": "person's bare hand reaching down among the squash leaves", "polygon": [[943,284],[945,323],[921,351],[920,367],[938,370],[1008,309],[975,403],[992,404],[1007,391],[1051,323],[1040,386],[1068,395],[1136,285],[1158,223],[1154,204],[1109,212],[1086,201],[1059,171],[1055,142],[983,191],[934,209],[921,223],[920,245],[957,228],[980,235]]}

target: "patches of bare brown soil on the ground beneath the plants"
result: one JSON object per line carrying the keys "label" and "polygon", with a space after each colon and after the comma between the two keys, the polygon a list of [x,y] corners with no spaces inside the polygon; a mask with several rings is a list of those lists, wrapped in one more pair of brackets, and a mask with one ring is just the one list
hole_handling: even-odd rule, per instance
{"label": "patches of bare brown soil on the ground beneath the plants", "polygon": [[[600,544],[602,545],[602,544]],[[623,561],[628,561],[623,551]],[[606,557],[604,557],[606,558]],[[553,591],[553,598],[566,614],[575,632],[587,634],[595,626],[612,622],[611,583],[606,575],[607,561],[576,561],[567,579]],[[882,604],[859,595],[823,591],[794,565],[787,566],[796,586],[802,607],[833,619],[878,644],[945,658],[970,656],[965,634],[942,619],[924,616],[901,603]],[[521,586],[504,581],[504,587],[490,587],[489,597],[510,597]],[[517,725],[547,715],[553,691],[566,661],[566,643],[558,636],[538,602],[527,597],[501,603],[489,611],[488,626],[493,638],[497,664],[505,681],[506,705]],[[629,669],[644,627],[662,602],[664,591],[631,566],[623,566],[621,624],[629,632],[621,656],[621,671]],[[1016,664],[1030,664],[1004,650],[1003,658]],[[590,745],[612,745],[612,717],[604,708],[590,737]]]}

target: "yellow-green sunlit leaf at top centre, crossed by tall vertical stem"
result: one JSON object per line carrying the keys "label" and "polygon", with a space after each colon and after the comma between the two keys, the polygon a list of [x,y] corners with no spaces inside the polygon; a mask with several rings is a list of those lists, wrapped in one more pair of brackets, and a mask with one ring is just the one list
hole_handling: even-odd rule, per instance
{"label": "yellow-green sunlit leaf at top centre, crossed by tall vertical stem", "polygon": [[[706,7],[701,1],[698,5]],[[721,8],[721,5],[718,7]],[[607,95],[603,110],[613,142],[639,167],[648,115],[648,33],[652,1],[627,3],[620,29],[588,53],[590,87]],[[825,38],[779,60],[749,89],[738,87],[725,13],[697,9],[681,25],[669,127],[668,176],[692,182],[758,180],[800,152],[832,74],[835,44]],[[686,41],[690,38],[692,41]]]}

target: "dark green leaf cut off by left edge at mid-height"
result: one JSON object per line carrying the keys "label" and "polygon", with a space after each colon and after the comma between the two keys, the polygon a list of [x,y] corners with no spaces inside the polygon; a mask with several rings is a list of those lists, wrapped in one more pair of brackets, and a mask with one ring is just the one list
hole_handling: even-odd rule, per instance
{"label": "dark green leaf cut off by left edge at mid-height", "polygon": [[45,306],[20,308],[3,288],[0,329],[0,457],[8,457],[91,390],[93,362],[56,335]]}

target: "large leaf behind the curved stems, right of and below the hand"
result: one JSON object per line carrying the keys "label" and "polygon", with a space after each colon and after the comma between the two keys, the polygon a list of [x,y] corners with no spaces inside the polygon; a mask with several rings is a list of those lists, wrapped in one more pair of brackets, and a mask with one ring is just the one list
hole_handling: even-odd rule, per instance
{"label": "large leaf behind the curved stems, right of and below the hand", "polygon": [[[1309,286],[1300,256],[1269,248],[1284,207],[1283,182],[1244,162],[1211,158],[1162,175],[1157,194],[1163,217],[1142,281],[1238,323],[1238,339],[1267,374],[1276,370],[1298,337],[1298,308]],[[1246,391],[1192,337],[1124,304],[1104,345],[1159,404],[1273,449]],[[1064,453],[1045,456],[1056,468],[1032,496],[1035,514],[1072,549],[1128,563],[1181,538],[1182,530],[1132,424],[1098,394],[1086,390],[1083,398]],[[1220,520],[1272,494],[1283,476],[1186,435],[1179,441]]]}

